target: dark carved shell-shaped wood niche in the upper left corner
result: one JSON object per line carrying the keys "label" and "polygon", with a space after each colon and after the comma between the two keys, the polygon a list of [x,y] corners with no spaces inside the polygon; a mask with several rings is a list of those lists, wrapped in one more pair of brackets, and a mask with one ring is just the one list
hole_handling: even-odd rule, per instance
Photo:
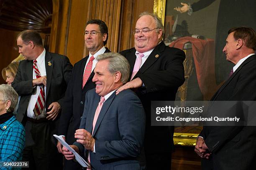
{"label": "dark carved shell-shaped wood niche in the upper left corner", "polygon": [[0,0],[0,28],[51,32],[52,0]]}

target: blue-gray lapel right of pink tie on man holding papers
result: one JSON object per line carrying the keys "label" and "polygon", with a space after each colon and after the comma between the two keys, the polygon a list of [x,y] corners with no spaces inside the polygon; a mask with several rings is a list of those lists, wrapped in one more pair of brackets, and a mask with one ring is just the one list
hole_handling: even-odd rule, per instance
{"label": "blue-gray lapel right of pink tie on man holding papers", "polygon": [[[97,132],[97,130],[100,126],[100,123],[102,122],[102,119],[105,116],[106,112],[108,111],[108,108],[110,107],[114,98],[115,98],[115,92],[113,92],[113,94],[110,97],[108,97],[108,99],[105,100],[104,104],[102,105],[102,108],[100,110],[100,114],[99,114],[99,117],[98,117],[97,122],[95,124],[95,128],[94,128],[92,136],[94,136],[95,133]],[[99,102],[100,102],[100,100],[99,100]],[[93,122],[93,118],[92,118],[91,122]]]}

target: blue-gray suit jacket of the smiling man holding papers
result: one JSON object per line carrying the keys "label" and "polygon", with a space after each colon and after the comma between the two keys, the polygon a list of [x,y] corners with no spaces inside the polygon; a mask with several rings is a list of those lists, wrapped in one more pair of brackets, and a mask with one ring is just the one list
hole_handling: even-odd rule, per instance
{"label": "blue-gray suit jacket of the smiling man holding papers", "polygon": [[[80,128],[92,133],[92,122],[100,96],[95,89],[86,94],[84,113]],[[115,92],[105,100],[97,119],[93,138],[95,152],[90,151],[92,169],[98,170],[139,170],[137,160],[141,153],[145,132],[145,113],[141,101],[132,90]],[[84,146],[79,147],[85,155]]]}

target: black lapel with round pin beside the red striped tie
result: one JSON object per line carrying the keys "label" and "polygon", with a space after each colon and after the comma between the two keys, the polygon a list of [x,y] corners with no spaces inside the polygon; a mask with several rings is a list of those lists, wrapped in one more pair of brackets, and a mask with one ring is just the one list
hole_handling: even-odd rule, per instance
{"label": "black lapel with round pin beside the red striped tie", "polygon": [[52,71],[54,67],[54,60],[51,60],[51,55],[48,51],[45,53],[45,70],[46,70],[46,100],[51,86]]}

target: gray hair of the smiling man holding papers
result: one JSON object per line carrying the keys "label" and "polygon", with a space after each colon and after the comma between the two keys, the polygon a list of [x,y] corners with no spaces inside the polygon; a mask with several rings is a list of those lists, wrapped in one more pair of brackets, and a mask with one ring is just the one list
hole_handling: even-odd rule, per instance
{"label": "gray hair of the smiling man holding papers", "polygon": [[128,60],[123,56],[116,52],[108,52],[96,57],[98,61],[100,60],[108,60],[108,71],[111,74],[114,74],[118,71],[121,72],[121,82],[124,84],[129,79],[130,74],[130,64]]}

